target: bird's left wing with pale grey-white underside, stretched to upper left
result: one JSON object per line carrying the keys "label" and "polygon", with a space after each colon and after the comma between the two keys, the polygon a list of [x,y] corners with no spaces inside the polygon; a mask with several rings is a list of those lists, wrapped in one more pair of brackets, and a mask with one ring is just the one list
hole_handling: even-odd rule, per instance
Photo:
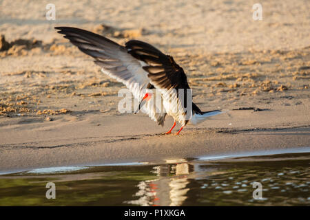
{"label": "bird's left wing with pale grey-white underside, stretched to upper left", "polygon": [[[147,72],[143,69],[141,62],[127,52],[127,48],[99,34],[86,30],[70,27],[56,27],[60,34],[79,50],[92,56],[95,63],[102,67],[102,72],[123,83],[140,101],[145,95],[145,88],[149,84]],[[150,102],[141,109],[150,118],[163,125],[165,115],[163,111],[157,111],[156,105]]]}

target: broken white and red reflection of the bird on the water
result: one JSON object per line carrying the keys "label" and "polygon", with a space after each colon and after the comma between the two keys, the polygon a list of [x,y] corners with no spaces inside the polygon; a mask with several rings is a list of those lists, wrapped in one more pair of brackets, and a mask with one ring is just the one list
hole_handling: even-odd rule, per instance
{"label": "broken white and red reflection of the bird on the water", "polygon": [[[189,164],[161,165],[154,167],[154,173],[158,179],[141,181],[138,184],[137,200],[126,201],[126,203],[139,206],[181,206],[187,199],[186,188],[189,181],[187,175],[190,173]],[[169,176],[169,174],[174,175]]]}

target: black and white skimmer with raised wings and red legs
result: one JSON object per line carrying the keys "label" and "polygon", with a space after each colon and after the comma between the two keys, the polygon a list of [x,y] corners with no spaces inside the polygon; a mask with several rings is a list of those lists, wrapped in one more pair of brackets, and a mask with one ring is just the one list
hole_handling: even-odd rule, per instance
{"label": "black and white skimmer with raised wings and red legs", "polygon": [[[181,125],[178,134],[188,122],[198,124],[209,116],[222,113],[220,110],[201,111],[192,102],[192,90],[183,69],[172,56],[163,54],[152,45],[132,40],[122,46],[79,28],[55,29],[81,52],[92,56],[104,74],[130,89],[134,98],[141,101],[138,110],[147,113],[158,125],[163,126],[166,115],[172,116],[174,124],[166,134],[171,133],[176,122]],[[151,101],[155,100],[156,94],[161,96],[159,104]]]}

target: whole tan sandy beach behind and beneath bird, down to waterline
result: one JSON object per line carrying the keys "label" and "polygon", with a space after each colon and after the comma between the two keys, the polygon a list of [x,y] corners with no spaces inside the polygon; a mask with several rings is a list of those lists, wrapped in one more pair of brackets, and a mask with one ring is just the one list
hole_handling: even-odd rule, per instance
{"label": "whole tan sandy beach behind and beneath bird, down to waterline", "polygon": [[[309,1],[0,1],[0,171],[310,146]],[[111,80],[58,25],[174,56],[201,109],[227,109],[179,136],[117,111]],[[264,111],[233,110],[253,107]],[[178,127],[176,128],[178,129]]]}

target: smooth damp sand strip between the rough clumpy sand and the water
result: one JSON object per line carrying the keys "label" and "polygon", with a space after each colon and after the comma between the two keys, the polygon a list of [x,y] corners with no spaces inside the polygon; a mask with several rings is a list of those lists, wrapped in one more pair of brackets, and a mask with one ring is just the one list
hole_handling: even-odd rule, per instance
{"label": "smooth damp sand strip between the rough clumpy sand and the water", "polygon": [[269,114],[247,111],[218,115],[200,126],[187,126],[178,136],[163,134],[168,125],[156,126],[143,115],[115,117],[92,113],[66,115],[53,122],[17,120],[16,124],[10,120],[9,125],[0,129],[1,171],[81,164],[163,163],[309,146],[309,125],[289,120],[268,124]]}

